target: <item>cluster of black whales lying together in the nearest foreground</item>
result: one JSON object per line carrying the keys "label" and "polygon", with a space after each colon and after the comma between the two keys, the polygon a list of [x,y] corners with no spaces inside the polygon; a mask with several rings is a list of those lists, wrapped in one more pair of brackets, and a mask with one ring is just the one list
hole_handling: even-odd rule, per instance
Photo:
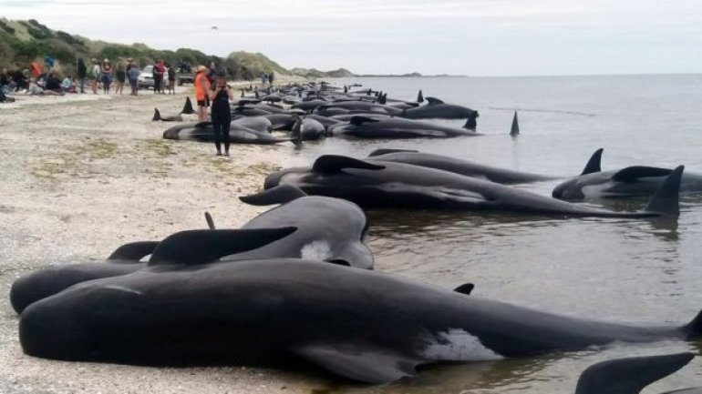
{"label": "cluster of black whales lying together in the nearest foreground", "polygon": [[153,366],[287,368],[302,359],[379,384],[427,364],[702,335],[702,313],[637,327],[476,297],[470,283],[450,291],[379,273],[355,204],[290,185],[242,199],[282,205],[241,229],[215,229],[208,216],[210,229],[15,281],[26,354]]}

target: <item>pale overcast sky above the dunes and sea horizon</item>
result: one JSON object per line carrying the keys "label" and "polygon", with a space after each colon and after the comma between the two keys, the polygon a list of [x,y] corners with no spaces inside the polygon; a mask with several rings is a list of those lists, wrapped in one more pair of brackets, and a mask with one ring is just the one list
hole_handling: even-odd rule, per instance
{"label": "pale overcast sky above the dunes and sea horizon", "polygon": [[286,68],[358,74],[702,70],[700,0],[0,0],[0,16],[91,39],[261,52]]}

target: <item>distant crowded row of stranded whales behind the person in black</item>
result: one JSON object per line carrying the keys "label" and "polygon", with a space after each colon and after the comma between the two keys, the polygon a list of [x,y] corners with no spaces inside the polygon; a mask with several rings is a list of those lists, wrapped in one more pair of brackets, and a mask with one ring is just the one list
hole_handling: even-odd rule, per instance
{"label": "distant crowded row of stranded whales behind the person in black", "polygon": [[[290,141],[300,146],[302,141],[325,136],[353,138],[432,138],[479,136],[475,132],[478,112],[466,106],[444,103],[427,98],[421,91],[417,102],[393,100],[387,94],[370,95],[341,93],[333,86],[313,84],[284,86],[276,92],[269,88],[263,97],[242,97],[232,104],[230,140],[234,144],[279,144]],[[242,92],[243,93],[243,92]],[[294,96],[292,96],[294,94]],[[295,98],[293,100],[293,98]],[[292,105],[286,108],[277,102]],[[191,113],[187,99],[182,113]],[[463,127],[446,126],[426,119],[466,119]],[[153,120],[182,121],[182,116],[161,116],[154,108]],[[516,118],[515,118],[516,120]],[[290,132],[290,137],[271,136],[272,131]],[[212,142],[212,123],[186,123],[163,132],[166,139]]]}

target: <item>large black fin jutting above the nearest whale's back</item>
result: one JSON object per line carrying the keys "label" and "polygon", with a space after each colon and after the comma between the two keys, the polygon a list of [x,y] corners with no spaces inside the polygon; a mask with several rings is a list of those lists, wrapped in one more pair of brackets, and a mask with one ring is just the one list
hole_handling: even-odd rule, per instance
{"label": "large black fin jutting above the nearest whale's back", "polygon": [[297,227],[280,227],[181,231],[160,241],[148,265],[194,266],[212,263],[224,256],[261,248],[290,235],[296,229]]}

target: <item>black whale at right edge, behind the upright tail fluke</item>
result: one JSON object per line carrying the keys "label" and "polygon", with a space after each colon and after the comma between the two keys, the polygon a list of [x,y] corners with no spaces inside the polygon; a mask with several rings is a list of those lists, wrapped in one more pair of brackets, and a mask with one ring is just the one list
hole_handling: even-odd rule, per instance
{"label": "black whale at right edge, behind the upright tail fluke", "polygon": [[[673,172],[670,168],[632,166],[602,171],[603,149],[590,157],[583,173],[563,181],[553,188],[552,196],[564,200],[583,200],[598,197],[651,196],[656,188]],[[702,192],[702,174],[685,172],[680,180],[683,193]]]}

